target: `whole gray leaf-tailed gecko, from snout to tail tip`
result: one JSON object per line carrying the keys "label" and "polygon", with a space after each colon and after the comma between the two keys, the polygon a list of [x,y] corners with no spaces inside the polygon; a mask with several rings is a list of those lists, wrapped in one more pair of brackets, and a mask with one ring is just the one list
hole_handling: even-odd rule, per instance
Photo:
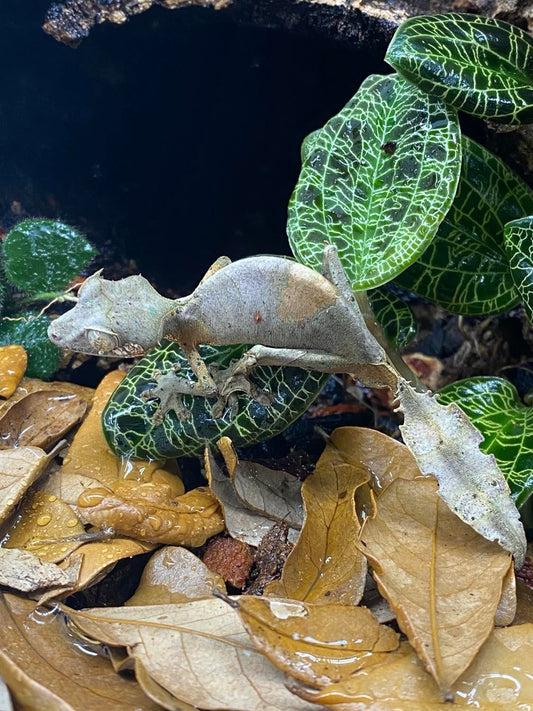
{"label": "whole gray leaf-tailed gecko, from snout to tail tip", "polygon": [[[107,356],[142,355],[164,337],[177,341],[198,380],[162,374],[145,393],[160,399],[160,416],[168,409],[178,413],[185,393],[217,396],[221,411],[236,392],[255,397],[248,375],[258,364],[352,373],[365,385],[389,386],[422,473],[436,475],[441,498],[482,536],[512,552],[520,567],[524,529],[494,458],[479,450],[479,432],[456,405],[445,408],[429,393],[416,393],[389,364],[330,246],[324,275],[281,257],[222,259],[190,296],[175,301],[142,277],[111,282],[94,275],[49,336],[59,346]],[[257,345],[213,378],[198,346],[237,343]]]}

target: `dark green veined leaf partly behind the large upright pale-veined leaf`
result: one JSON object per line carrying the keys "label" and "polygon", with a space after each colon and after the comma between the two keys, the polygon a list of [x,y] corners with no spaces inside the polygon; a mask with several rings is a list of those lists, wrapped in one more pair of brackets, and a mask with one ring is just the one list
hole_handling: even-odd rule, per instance
{"label": "dark green veined leaf partly behind the large upright pale-veined leaf", "polygon": [[495,155],[463,136],[457,195],[437,236],[396,281],[460,314],[491,314],[520,301],[504,226],[533,212],[533,191]]}

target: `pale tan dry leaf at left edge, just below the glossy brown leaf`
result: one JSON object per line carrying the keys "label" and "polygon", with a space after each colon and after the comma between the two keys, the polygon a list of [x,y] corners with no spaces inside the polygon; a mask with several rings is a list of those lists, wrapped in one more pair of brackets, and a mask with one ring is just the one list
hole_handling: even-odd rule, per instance
{"label": "pale tan dry leaf at left edge, just below the glossy brown leaf", "polygon": [[49,455],[38,447],[0,451],[0,523],[13,512],[49,462]]}

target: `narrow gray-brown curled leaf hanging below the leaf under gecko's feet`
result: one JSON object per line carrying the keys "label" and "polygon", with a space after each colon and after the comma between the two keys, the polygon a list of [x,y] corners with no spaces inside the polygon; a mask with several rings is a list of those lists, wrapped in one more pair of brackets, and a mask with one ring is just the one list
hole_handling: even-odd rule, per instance
{"label": "narrow gray-brown curled leaf hanging below the leaf under gecko's feet", "polygon": [[251,546],[258,546],[275,526],[275,522],[255,511],[250,511],[240,501],[231,479],[218,466],[209,447],[205,448],[204,462],[207,481],[211,491],[220,502],[228,533],[239,541],[244,541]]}

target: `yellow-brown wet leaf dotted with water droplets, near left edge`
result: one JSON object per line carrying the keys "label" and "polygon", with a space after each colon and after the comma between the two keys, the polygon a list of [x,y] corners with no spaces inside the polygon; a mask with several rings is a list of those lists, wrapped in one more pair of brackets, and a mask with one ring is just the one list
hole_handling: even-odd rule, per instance
{"label": "yellow-brown wet leaf dotted with water droplets, near left edge", "polygon": [[57,563],[80,546],[79,540],[69,539],[84,532],[68,504],[56,496],[34,491],[25,499],[4,546],[29,550],[42,560]]}

